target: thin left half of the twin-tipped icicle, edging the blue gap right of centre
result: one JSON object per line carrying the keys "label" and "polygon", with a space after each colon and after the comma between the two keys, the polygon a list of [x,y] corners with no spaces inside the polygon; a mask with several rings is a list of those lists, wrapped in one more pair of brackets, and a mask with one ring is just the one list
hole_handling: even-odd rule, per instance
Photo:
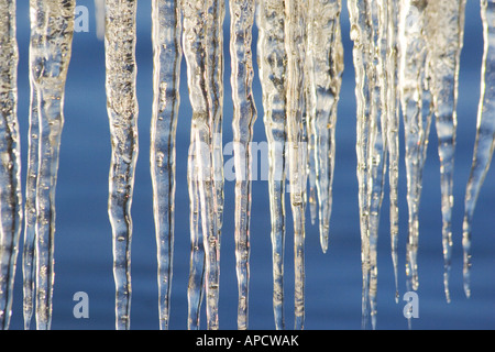
{"label": "thin left half of the twin-tipped icicle, edging the blue gap right of centre", "polygon": [[367,164],[369,138],[370,138],[370,82],[366,72],[371,65],[370,57],[370,26],[366,25],[367,2],[348,1],[351,20],[351,40],[354,42],[353,61],[355,69],[355,96],[356,96],[356,155],[358,155],[358,184],[361,229],[361,266],[363,274],[362,292],[362,328],[367,323],[370,315],[370,235],[369,218],[370,208],[367,201],[370,167]]}

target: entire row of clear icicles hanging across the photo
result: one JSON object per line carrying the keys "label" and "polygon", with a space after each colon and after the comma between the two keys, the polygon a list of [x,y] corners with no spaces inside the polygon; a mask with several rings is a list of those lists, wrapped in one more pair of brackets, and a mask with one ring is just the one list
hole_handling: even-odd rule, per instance
{"label": "entire row of clear icicles hanging across the photo", "polygon": [[[130,328],[131,202],[138,158],[136,0],[96,0],[106,16],[107,99],[111,133],[109,218],[116,280],[116,328]],[[495,1],[481,0],[485,52],[473,166],[463,226],[464,289],[470,295],[473,212],[495,145],[492,97],[495,68],[491,33]],[[30,0],[31,109],[25,205],[22,211],[16,117],[15,1],[0,1],[1,105],[0,323],[9,328],[22,220],[24,326],[35,307],[37,329],[50,329],[54,284],[55,188],[64,123],[64,87],[70,61],[75,1]],[[336,164],[337,106],[343,72],[341,0],[230,0],[232,129],[235,161],[238,328],[249,327],[251,154],[257,110],[252,91],[252,31],[257,11],[257,55],[268,141],[275,328],[285,328],[285,179],[294,219],[295,328],[305,322],[305,213],[319,223],[328,249]],[[105,11],[102,9],[105,8]],[[354,42],[356,155],[363,270],[363,327],[376,327],[377,235],[386,165],[391,189],[391,243],[397,287],[399,107],[405,127],[409,240],[406,274],[417,289],[418,208],[432,117],[439,138],[444,287],[449,300],[451,209],[458,76],[465,0],[348,0]],[[193,107],[188,188],[190,275],[188,329],[199,329],[206,297],[207,327],[219,328],[220,240],[223,212],[222,0],[153,0],[153,117],[151,173],[158,263],[160,328],[168,328],[173,274],[175,135],[180,62],[187,64]],[[101,23],[101,22],[100,22]],[[300,167],[307,165],[307,167]],[[307,185],[309,188],[307,189]],[[24,218],[23,218],[24,215]],[[396,293],[396,296],[398,293]],[[398,296],[397,296],[398,297]]]}

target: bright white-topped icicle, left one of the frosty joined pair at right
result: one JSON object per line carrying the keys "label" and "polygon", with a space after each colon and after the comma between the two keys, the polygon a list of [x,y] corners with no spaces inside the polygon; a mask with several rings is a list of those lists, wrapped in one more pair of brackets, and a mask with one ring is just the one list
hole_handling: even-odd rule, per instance
{"label": "bright white-topped icicle, left one of the frosty joined pair at right", "polygon": [[426,2],[406,0],[399,10],[399,95],[403,107],[407,204],[409,210],[409,242],[406,273],[408,289],[418,288],[417,251],[419,239],[419,202],[422,169],[431,124],[431,97],[425,76],[427,44],[424,34]]}

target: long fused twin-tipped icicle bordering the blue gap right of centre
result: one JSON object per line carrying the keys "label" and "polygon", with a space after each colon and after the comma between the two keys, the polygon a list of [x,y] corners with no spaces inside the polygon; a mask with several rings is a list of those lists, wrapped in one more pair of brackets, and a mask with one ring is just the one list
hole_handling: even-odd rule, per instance
{"label": "long fused twin-tipped icicle bordering the blue gap right of centre", "polygon": [[387,19],[385,0],[350,2],[358,97],[358,180],[363,270],[363,328],[376,327],[377,240],[387,156]]}

